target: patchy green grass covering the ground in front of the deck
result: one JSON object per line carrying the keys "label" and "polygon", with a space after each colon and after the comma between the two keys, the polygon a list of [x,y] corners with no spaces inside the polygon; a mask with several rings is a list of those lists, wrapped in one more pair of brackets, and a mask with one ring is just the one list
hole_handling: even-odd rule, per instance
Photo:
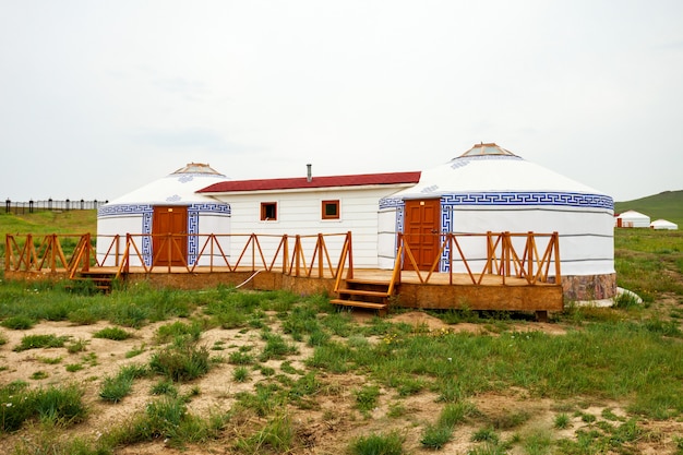
{"label": "patchy green grass covering the ground in front of the deck", "polygon": [[[678,232],[618,230],[619,285],[640,294],[645,304],[624,299],[611,309],[568,308],[552,320],[567,327],[562,336],[515,332],[513,324],[520,321],[524,324],[525,320],[501,312],[430,313],[445,322],[479,324],[481,333],[488,331],[490,335],[430,332],[380,318],[357,322],[347,312],[334,311],[322,296],[240,291],[225,286],[196,292],[156,290],[140,284],[122,286],[103,296],[68,291],[46,283],[2,282],[0,320],[7,330],[24,330],[21,324],[27,322],[107,321],[112,325],[105,332],[109,339],[130,334],[129,327],[164,322],[156,331],[158,346],[154,346],[156,350],[148,363],[97,379],[100,398],[119,403],[127,399],[139,378],[156,375],[155,385],[146,388],[154,400],[130,421],[115,426],[96,444],[79,442],[84,444],[83,453],[100,448],[112,453],[119,445],[158,438],[182,446],[217,438],[220,431],[236,451],[296,453],[304,442],[298,439],[300,423],[291,412],[319,409],[316,399],[321,395],[333,403],[347,400],[354,414],[360,414],[363,420],[372,419],[374,410],[382,409],[381,403],[388,402],[387,421],[418,428],[419,441],[426,450],[447,447],[455,429],[468,426],[474,428],[476,440],[470,443],[472,454],[508,453],[513,446],[527,454],[635,453],[637,441],[656,436],[640,427],[642,419],[683,417],[682,251],[683,237]],[[670,303],[661,311],[664,299]],[[240,333],[236,333],[235,340],[213,342],[211,348],[202,346],[203,333],[214,327],[239,328]],[[239,343],[238,338],[241,338]],[[12,348],[16,351],[62,349],[49,357],[36,355],[35,359],[47,370],[44,366],[69,352],[70,356],[63,356],[70,359],[64,361],[64,369],[75,372],[98,362],[94,352],[87,352],[88,343],[89,339],[31,335]],[[193,399],[188,387],[200,393],[201,383],[193,381],[215,366],[216,359],[209,357],[215,348],[225,350],[226,361],[233,366],[221,373],[226,383],[236,386],[230,384],[230,379],[248,382],[251,388],[229,395],[226,392],[226,396],[236,399],[229,415],[194,416],[188,411],[187,403]],[[292,356],[304,348],[311,355],[302,362],[295,361],[298,359]],[[135,347],[125,357],[144,349],[144,345]],[[356,382],[335,384],[338,374],[354,374]],[[47,390],[43,387],[51,379],[25,378],[27,383],[23,385],[7,385],[5,388],[13,387],[12,393],[0,394],[0,404],[14,406],[16,397],[29,397]],[[623,404],[626,416],[609,409],[592,415],[573,405],[553,408],[558,414],[552,428],[540,429],[529,428],[535,418],[529,411],[501,410],[487,415],[471,404],[475,396],[510,390],[558,403],[574,403],[577,397],[587,403],[618,402]],[[438,399],[440,412],[434,412],[433,420],[410,421],[406,427],[402,419],[411,414],[406,398],[424,394]],[[13,429],[4,432],[20,431],[45,419],[33,408],[23,408],[25,418],[21,412],[10,418],[8,409],[14,412],[13,406],[0,406],[0,412],[4,412],[0,418],[20,421],[19,427],[13,423]],[[73,419],[58,417],[45,421],[65,426],[86,419],[86,411]],[[334,422],[339,418],[335,411],[336,407],[322,414]],[[580,423],[573,426],[573,419]],[[242,426],[242,422],[250,423]],[[558,440],[560,430],[571,430],[573,436]],[[36,445],[47,444],[43,453],[64,450],[64,445],[59,445],[63,442],[50,442],[47,436],[35,441]],[[354,454],[405,452],[402,433],[388,429],[385,433],[354,438],[348,444],[348,452]],[[675,444],[683,446],[680,441]]]}

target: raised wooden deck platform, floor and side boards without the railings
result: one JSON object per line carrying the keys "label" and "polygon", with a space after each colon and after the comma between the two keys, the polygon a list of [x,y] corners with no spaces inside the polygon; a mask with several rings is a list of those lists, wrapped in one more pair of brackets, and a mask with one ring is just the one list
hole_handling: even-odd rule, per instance
{"label": "raised wooden deck platform, floor and side boards without the railings", "polygon": [[[116,267],[91,267],[84,276],[116,274]],[[52,277],[67,279],[67,271],[56,273],[36,272],[5,272],[8,279],[40,279]],[[61,276],[60,276],[61,275]],[[297,294],[311,295],[325,292],[333,300],[339,297],[335,292],[335,278],[332,274],[319,277],[290,276],[278,272],[253,270],[244,267],[230,271],[228,267],[196,267],[189,273],[185,267],[155,267],[145,271],[143,267],[130,267],[124,275],[128,283],[146,282],[155,287],[172,287],[179,289],[202,289],[206,287],[236,286],[252,290],[286,289]],[[356,268],[355,282],[388,284],[392,271]],[[343,286],[346,287],[346,280]],[[337,303],[342,303],[338,302]],[[346,303],[342,303],[346,304]],[[418,274],[404,271],[400,283],[388,298],[384,308],[366,306],[362,303],[346,304],[376,309],[380,313],[391,311],[393,307],[416,309],[469,309],[492,311],[529,311],[536,312],[543,319],[548,312],[563,311],[562,286],[555,284],[536,283],[529,285],[524,278],[506,277],[505,284],[499,275],[484,275],[481,284],[472,284],[467,274],[432,274],[429,283],[421,283]]]}

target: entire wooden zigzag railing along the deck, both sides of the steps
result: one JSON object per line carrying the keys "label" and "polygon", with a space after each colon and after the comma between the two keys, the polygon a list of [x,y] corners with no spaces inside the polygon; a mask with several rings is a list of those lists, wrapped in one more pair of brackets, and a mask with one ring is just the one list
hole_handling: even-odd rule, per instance
{"label": "entire wooden zigzag railing along the deck, both sides of the steps", "polygon": [[[194,236],[197,240],[197,254],[193,262],[188,263],[185,254],[181,253],[181,243],[187,242],[188,237]],[[484,276],[498,276],[502,284],[506,277],[526,279],[527,284],[547,283],[551,272],[554,272],[555,283],[561,282],[560,271],[560,241],[558,232],[553,234],[435,234],[440,240],[440,250],[429,270],[419,270],[412,253],[414,246],[404,235],[398,235],[398,246],[394,270],[390,282],[390,291],[400,284],[404,265],[410,265],[411,273],[417,274],[420,283],[428,284],[435,273],[448,274],[448,284],[453,284],[453,275],[465,273],[475,285],[481,285]],[[62,248],[63,239],[75,238],[75,247],[71,254],[65,254]],[[107,243],[107,238],[109,242]],[[336,247],[331,254],[328,243],[333,238],[342,238],[340,247]],[[61,239],[61,240],[60,240]],[[277,242],[276,248],[264,249],[263,241],[272,239]],[[293,239],[293,241],[291,241]],[[484,265],[479,271],[474,271],[472,262],[467,259],[463,243],[467,239],[481,239],[486,242],[486,258],[479,262]],[[156,240],[154,256],[145,256],[141,251],[144,241]],[[314,240],[314,243],[313,243]],[[541,242],[544,241],[544,244]],[[134,260],[144,273],[155,270],[166,272],[184,271],[195,272],[197,267],[208,268],[213,272],[220,267],[229,272],[241,271],[278,271],[286,275],[302,277],[329,276],[335,279],[335,289],[338,289],[342,280],[354,277],[354,251],[351,232],[345,234],[317,234],[313,236],[268,236],[268,235],[132,235],[125,236],[99,236],[99,242],[107,244],[100,248],[104,251],[99,256],[92,244],[89,234],[85,235],[49,235],[40,242],[36,238],[26,235],[19,236],[8,234],[5,236],[5,271],[35,271],[35,272],[63,272],[67,271],[73,278],[80,272],[87,272],[91,267],[104,265],[113,266],[117,277],[129,273],[131,261]],[[123,246],[121,242],[125,242]],[[239,255],[235,261],[226,253],[224,244],[229,242],[243,242]],[[275,244],[273,242],[273,244]],[[337,242],[338,243],[338,242]],[[312,247],[311,247],[312,244]],[[520,246],[524,246],[523,248]],[[158,264],[161,253],[165,258],[177,258],[180,263],[171,265]],[[338,255],[337,255],[338,254]],[[310,258],[310,259],[309,259]],[[334,259],[337,259],[336,262]],[[443,272],[442,262],[447,264]],[[456,266],[464,272],[455,272]]]}

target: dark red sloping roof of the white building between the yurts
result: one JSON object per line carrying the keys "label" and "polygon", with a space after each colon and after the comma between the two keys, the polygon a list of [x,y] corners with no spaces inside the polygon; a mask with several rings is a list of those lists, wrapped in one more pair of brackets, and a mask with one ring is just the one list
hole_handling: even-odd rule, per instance
{"label": "dark red sloping roof of the white building between the yurts", "polygon": [[197,191],[197,193],[418,183],[420,181],[420,171],[359,173],[355,176],[313,177],[311,181],[308,181],[305,177],[288,179],[228,180],[203,188]]}

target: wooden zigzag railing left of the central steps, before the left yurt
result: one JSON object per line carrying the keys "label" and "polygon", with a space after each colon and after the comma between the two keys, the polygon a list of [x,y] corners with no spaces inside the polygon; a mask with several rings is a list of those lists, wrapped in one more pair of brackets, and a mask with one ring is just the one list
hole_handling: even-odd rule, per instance
{"label": "wooden zigzag railing left of the central steps, before the left yurt", "polygon": [[[79,241],[71,254],[65,254],[61,247],[60,238],[79,238]],[[181,249],[182,242],[187,244],[189,237],[194,237],[199,246],[199,252],[192,261],[188,262],[188,256]],[[275,239],[277,248],[274,252],[266,253],[261,243],[264,239]],[[339,239],[337,243],[338,261],[335,263],[329,252],[328,243],[333,238]],[[109,239],[109,240],[107,240]],[[290,241],[293,239],[293,241]],[[345,234],[317,234],[313,236],[268,236],[268,235],[132,235],[125,236],[99,236],[98,241],[104,242],[106,248],[104,254],[97,256],[95,248],[91,242],[89,234],[82,236],[49,235],[45,236],[39,247],[36,248],[35,238],[26,235],[24,239],[17,236],[5,236],[5,271],[34,271],[34,272],[63,272],[67,271],[70,277],[74,277],[79,272],[86,272],[91,266],[112,266],[117,277],[123,273],[129,273],[131,266],[142,267],[144,273],[152,273],[154,270],[166,270],[170,273],[184,271],[194,272],[196,267],[202,267],[213,272],[217,267],[227,268],[229,272],[239,270],[250,270],[255,272],[279,271],[292,276],[328,276],[336,278],[349,264],[348,270],[352,271],[351,232]],[[124,243],[122,244],[122,242]],[[155,242],[156,251],[154,256],[145,256],[142,253],[143,241]],[[226,252],[223,244],[227,242],[243,242],[237,260],[230,260],[229,252]],[[314,241],[314,242],[313,242]],[[312,246],[311,246],[312,244]],[[269,250],[268,250],[269,251]],[[267,258],[266,258],[267,255]],[[334,254],[333,254],[334,255]],[[177,263],[160,261],[164,258],[173,258]],[[310,259],[308,259],[310,258]],[[132,260],[136,265],[131,265]],[[166,262],[163,265],[157,265]]]}

